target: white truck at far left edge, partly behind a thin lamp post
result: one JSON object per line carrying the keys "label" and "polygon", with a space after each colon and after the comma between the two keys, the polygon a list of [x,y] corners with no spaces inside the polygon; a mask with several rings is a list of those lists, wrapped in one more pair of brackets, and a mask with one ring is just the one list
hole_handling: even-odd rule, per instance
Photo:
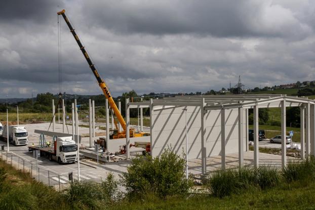
{"label": "white truck at far left edge, partly behind a thin lamp post", "polygon": [[[7,141],[7,126],[3,127],[1,139],[3,141]],[[27,145],[28,144],[28,132],[25,127],[17,126],[17,125],[9,125],[9,142],[14,146],[17,145]]]}

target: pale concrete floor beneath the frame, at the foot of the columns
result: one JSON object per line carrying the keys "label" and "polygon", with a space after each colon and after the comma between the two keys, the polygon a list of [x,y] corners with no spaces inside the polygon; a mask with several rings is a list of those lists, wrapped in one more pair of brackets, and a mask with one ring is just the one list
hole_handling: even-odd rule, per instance
{"label": "pale concrete floor beneath the frame, at the foot of the columns", "polygon": [[[299,160],[294,157],[287,157],[287,160]],[[236,168],[239,166],[239,153],[231,153],[225,156],[226,168]],[[281,167],[281,155],[266,154],[259,152],[259,165]],[[254,166],[254,152],[244,152],[244,166]],[[213,172],[221,169],[221,156],[207,158],[207,171]],[[201,174],[201,159],[188,160],[188,172],[191,174]]]}

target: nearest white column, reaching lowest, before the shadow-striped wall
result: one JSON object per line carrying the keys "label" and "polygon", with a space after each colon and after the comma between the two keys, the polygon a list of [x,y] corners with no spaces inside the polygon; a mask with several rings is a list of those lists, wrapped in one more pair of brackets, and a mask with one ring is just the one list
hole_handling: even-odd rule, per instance
{"label": "nearest white column, reaching lowest, before the shadow-striped wall", "polygon": [[204,110],[206,106],[205,98],[202,98],[200,112],[201,112],[201,169],[202,174],[207,173],[207,136],[206,136],[206,128],[207,128],[207,111]]}

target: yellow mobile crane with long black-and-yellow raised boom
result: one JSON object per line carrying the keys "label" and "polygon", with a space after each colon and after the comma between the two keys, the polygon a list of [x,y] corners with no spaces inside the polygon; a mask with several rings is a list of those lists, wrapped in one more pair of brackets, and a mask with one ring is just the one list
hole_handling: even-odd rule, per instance
{"label": "yellow mobile crane with long black-and-yellow raised boom", "polygon": [[[60,12],[57,13],[58,15],[61,15],[63,17],[63,19],[66,21],[66,24],[68,25],[70,32],[72,33],[73,37],[76,40],[76,43],[78,44],[81,52],[83,53],[85,59],[87,60],[94,76],[96,77],[96,80],[98,82],[98,85],[100,86],[100,88],[102,89],[105,97],[108,99],[109,102],[109,106],[110,108],[114,111],[114,114],[116,115],[118,121],[121,123],[122,128],[124,129],[124,131],[120,132],[117,129],[117,125],[116,125],[116,130],[113,130],[113,134],[110,136],[111,139],[119,139],[119,138],[126,138],[126,122],[121,114],[121,112],[119,111],[119,109],[117,108],[114,100],[112,99],[112,96],[110,95],[110,92],[106,86],[106,83],[104,82],[104,80],[100,77],[99,73],[97,72],[94,64],[92,63],[87,51],[85,50],[84,46],[82,45],[80,39],[78,38],[77,34],[74,31],[74,28],[72,27],[71,23],[69,22],[69,19],[66,17],[65,15],[65,10],[62,10]],[[107,125],[106,125],[107,126]],[[130,137],[142,137],[142,136],[149,136],[150,134],[148,133],[144,133],[144,132],[135,132],[134,129],[130,129]]]}

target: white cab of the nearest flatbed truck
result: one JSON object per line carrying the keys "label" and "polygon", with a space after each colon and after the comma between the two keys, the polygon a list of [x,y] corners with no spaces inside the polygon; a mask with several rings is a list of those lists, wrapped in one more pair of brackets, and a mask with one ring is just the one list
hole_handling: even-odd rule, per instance
{"label": "white cab of the nearest flatbed truck", "polygon": [[72,137],[58,137],[54,142],[57,162],[77,161],[77,146]]}

